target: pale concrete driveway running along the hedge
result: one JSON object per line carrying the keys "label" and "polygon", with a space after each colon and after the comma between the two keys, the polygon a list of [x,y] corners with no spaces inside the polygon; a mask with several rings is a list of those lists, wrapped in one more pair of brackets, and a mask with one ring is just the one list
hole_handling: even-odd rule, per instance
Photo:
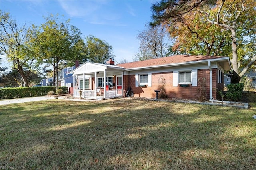
{"label": "pale concrete driveway running along the hedge", "polygon": [[8,105],[8,104],[13,104],[13,103],[24,103],[24,102],[31,102],[31,101],[50,100],[50,99],[54,99],[54,97],[39,96],[39,97],[24,97],[24,98],[18,98],[18,99],[5,99],[5,100],[0,100],[0,105]]}

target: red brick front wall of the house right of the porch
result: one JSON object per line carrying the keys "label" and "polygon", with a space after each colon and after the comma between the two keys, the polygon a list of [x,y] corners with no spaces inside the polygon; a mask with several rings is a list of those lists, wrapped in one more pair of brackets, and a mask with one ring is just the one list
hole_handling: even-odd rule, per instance
{"label": "red brick front wall of the house right of the porch", "polygon": [[[219,89],[220,87],[223,87],[223,83],[218,83],[216,73],[218,73],[217,69],[212,69],[212,96],[214,99],[216,99],[217,95],[214,88]],[[192,87],[191,84],[189,87],[180,87],[179,85],[177,87],[173,87],[173,72],[152,73],[152,87],[135,87],[135,75],[124,75],[124,90],[126,91],[130,86],[132,87],[135,97],[155,98],[156,92],[154,92],[154,90],[161,90],[158,81],[162,76],[165,79],[164,89],[169,98],[198,99],[204,95],[206,99],[210,99],[209,69],[198,70],[197,74],[198,85],[196,87]]]}

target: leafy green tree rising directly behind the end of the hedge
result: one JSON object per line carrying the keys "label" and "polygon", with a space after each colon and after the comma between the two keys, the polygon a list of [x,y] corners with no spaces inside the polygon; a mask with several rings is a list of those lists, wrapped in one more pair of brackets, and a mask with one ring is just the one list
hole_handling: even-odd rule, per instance
{"label": "leafy green tree rising directly behind the end of the hedge", "polygon": [[50,14],[44,17],[46,22],[41,26],[33,26],[30,30],[33,35],[34,53],[38,55],[40,63],[50,64],[53,67],[53,84],[55,79],[58,88],[58,67],[60,61],[71,60],[76,55],[76,43],[81,40],[81,32],[70,26],[70,20],[61,21],[57,16]]}

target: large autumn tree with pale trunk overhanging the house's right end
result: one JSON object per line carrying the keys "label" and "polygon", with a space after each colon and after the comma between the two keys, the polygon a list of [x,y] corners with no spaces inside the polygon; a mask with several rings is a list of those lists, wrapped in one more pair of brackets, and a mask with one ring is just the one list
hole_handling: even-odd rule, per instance
{"label": "large autumn tree with pale trunk overhanging the house's right end", "polygon": [[[202,47],[202,43],[206,45],[209,42],[204,42],[204,37],[197,33],[208,33],[206,37],[209,38],[213,35],[214,38],[211,38],[210,42],[217,41],[215,45],[219,45],[219,49],[214,45],[210,46],[210,43],[208,47],[213,48],[217,53],[221,50],[222,55],[230,57],[233,67],[231,83],[239,83],[240,78],[256,61],[255,6],[255,0],[162,0],[152,6],[153,22],[151,25],[162,24],[172,32],[176,28],[184,28],[187,23],[190,26],[191,20],[197,21],[204,30],[194,28],[196,32],[193,30],[190,32],[190,35],[198,36],[198,42],[192,43],[194,45],[192,48],[198,49],[197,47]],[[218,33],[215,29],[219,30]],[[184,36],[182,32],[176,34],[178,38],[182,35]],[[182,38],[178,40],[182,42]]]}

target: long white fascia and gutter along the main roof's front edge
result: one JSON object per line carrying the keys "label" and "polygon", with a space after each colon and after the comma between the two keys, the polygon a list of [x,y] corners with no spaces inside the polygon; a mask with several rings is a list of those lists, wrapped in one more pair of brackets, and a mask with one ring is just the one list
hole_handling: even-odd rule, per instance
{"label": "long white fascia and gutter along the main roof's front edge", "polygon": [[208,61],[225,61],[225,60],[228,60],[228,63],[230,64],[229,57],[224,57],[224,58],[207,59],[207,60],[200,60],[200,61],[189,61],[189,62],[183,62],[183,63],[172,63],[172,64],[164,64],[164,65],[152,65],[152,66],[146,66],[146,67],[136,67],[136,68],[130,68],[130,69],[125,69],[125,70],[132,71],[132,70],[139,70],[139,69],[150,69],[150,68],[154,68],[154,67],[160,68],[160,67],[190,65],[190,64],[198,64],[198,63],[208,63]]}

